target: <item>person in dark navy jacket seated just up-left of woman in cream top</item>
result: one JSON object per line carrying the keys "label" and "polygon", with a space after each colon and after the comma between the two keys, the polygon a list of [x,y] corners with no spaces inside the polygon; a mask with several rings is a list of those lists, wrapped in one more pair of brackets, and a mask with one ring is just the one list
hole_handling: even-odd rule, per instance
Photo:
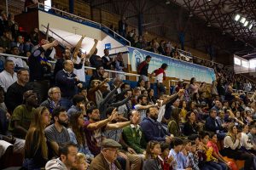
{"label": "person in dark navy jacket seated just up-left of woman in cream top", "polygon": [[210,115],[207,117],[207,122],[205,124],[206,130],[212,133],[217,133],[218,139],[224,139],[226,136],[226,133],[224,133],[224,128],[228,127],[228,124],[218,124],[216,116],[217,111],[212,109],[210,111]]}

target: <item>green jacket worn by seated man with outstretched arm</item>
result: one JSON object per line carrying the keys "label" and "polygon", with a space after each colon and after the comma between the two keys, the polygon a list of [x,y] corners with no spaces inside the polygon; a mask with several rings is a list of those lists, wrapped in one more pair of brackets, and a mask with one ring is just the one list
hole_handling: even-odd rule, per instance
{"label": "green jacket worn by seated man with outstretched arm", "polygon": [[137,154],[143,154],[143,151],[146,148],[146,140],[144,139],[143,131],[141,127],[136,127],[130,125],[124,127],[123,130],[123,139],[125,143],[128,144]]}

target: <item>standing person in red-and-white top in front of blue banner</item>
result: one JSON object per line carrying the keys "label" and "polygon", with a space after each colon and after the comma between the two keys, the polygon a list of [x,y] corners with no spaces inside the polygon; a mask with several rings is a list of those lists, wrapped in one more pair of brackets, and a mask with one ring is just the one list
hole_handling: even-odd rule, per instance
{"label": "standing person in red-and-white top in front of blue banner", "polygon": [[166,69],[168,65],[166,63],[162,64],[158,70],[155,70],[153,74],[155,75],[155,83],[160,94],[166,94],[166,88],[164,86],[164,81],[166,80]]}

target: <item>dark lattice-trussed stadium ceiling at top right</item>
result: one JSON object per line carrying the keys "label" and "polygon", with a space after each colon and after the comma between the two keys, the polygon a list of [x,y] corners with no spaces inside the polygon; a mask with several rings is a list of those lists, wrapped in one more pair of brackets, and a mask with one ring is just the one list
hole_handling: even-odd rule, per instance
{"label": "dark lattice-trussed stadium ceiling at top right", "polygon": [[[176,3],[186,8],[190,17],[200,17],[207,26],[218,27],[223,34],[256,47],[256,0],[163,0],[163,3]],[[236,14],[248,21],[247,26],[235,20]]]}

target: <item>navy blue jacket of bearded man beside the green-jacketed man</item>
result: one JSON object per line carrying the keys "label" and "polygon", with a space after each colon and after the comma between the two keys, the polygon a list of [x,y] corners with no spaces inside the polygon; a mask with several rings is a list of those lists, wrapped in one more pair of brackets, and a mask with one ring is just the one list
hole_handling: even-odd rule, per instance
{"label": "navy blue jacket of bearded man beside the green-jacketed man", "polygon": [[147,142],[150,140],[166,141],[166,136],[170,136],[170,133],[167,133],[160,122],[154,121],[149,117],[143,119],[141,127]]}

